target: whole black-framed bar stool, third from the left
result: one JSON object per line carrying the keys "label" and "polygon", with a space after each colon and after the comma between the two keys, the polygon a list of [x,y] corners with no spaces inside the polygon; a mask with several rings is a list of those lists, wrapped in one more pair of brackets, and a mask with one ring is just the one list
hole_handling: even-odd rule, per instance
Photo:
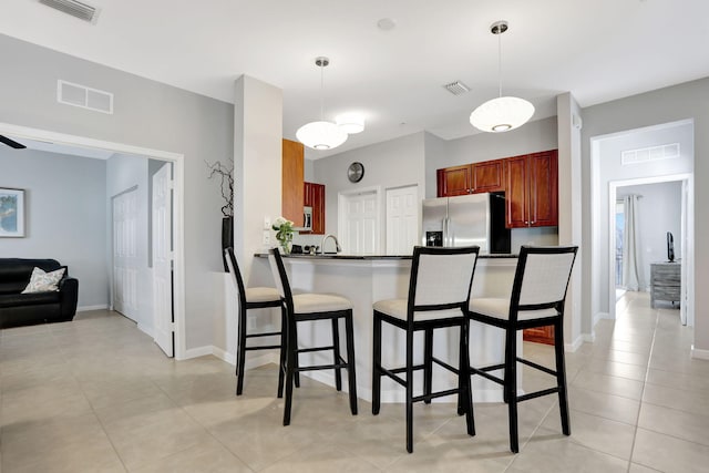
{"label": "whole black-framed bar stool, third from the left", "polygon": [[[407,390],[407,451],[413,452],[413,403],[443,395],[458,394],[459,414],[465,413],[467,433],[475,434],[471,380],[467,372],[467,319],[465,309],[477,261],[480,247],[440,248],[414,247],[408,299],[389,299],[374,302],[372,414],[379,414],[381,404],[381,377],[386,376]],[[407,361],[401,368],[384,368],[381,362],[382,322],[405,330]],[[459,368],[433,357],[433,331],[440,328],[460,329]],[[423,364],[413,364],[413,336],[424,331]],[[433,363],[458,376],[458,388],[432,392]],[[413,395],[413,372],[423,370],[423,394]],[[405,373],[405,378],[399,376]]]}

